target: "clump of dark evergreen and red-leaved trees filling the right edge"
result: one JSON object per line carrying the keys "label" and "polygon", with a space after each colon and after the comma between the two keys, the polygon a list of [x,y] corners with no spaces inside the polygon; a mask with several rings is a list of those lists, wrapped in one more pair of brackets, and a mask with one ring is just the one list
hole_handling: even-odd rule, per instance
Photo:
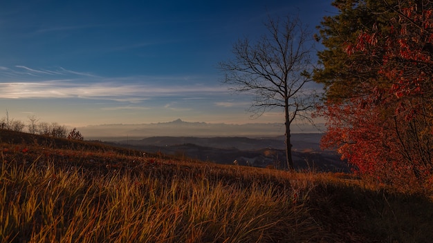
{"label": "clump of dark evergreen and red-leaved trees filling the right edge", "polygon": [[[323,143],[361,173],[423,184],[433,174],[430,1],[334,1],[320,36]],[[432,52],[430,52],[432,50]]]}

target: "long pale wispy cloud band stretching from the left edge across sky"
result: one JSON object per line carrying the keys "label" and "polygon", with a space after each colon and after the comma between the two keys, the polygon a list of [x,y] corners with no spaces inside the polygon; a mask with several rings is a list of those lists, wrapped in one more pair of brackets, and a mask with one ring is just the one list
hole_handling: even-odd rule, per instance
{"label": "long pale wispy cloud band stretching from the left edge across sky", "polygon": [[[12,78],[11,78],[12,77]],[[202,99],[226,94],[221,86],[196,84],[188,77],[116,77],[105,78],[66,68],[55,70],[15,66],[0,67],[0,98],[79,98],[107,99],[138,103],[160,97]]]}

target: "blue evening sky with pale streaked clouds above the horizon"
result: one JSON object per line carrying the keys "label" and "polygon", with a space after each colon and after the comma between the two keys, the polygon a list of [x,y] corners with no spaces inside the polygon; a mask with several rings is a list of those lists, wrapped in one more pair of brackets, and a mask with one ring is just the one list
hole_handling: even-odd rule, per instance
{"label": "blue evening sky with pale streaked clouds above the horizon", "polygon": [[232,45],[268,16],[314,29],[331,0],[2,1],[0,119],[66,126],[283,122],[250,119],[251,97],[221,84]]}

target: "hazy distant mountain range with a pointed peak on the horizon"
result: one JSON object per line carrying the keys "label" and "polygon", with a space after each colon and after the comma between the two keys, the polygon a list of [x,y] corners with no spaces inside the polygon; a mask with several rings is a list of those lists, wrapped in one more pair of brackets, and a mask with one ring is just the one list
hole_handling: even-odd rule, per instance
{"label": "hazy distant mountain range with a pointed peak on the horizon", "polygon": [[[319,124],[321,125],[321,124]],[[320,133],[311,125],[293,125],[292,133]],[[284,124],[211,124],[205,122],[172,122],[152,124],[102,124],[77,128],[85,139],[124,140],[143,137],[275,137],[284,135]]]}

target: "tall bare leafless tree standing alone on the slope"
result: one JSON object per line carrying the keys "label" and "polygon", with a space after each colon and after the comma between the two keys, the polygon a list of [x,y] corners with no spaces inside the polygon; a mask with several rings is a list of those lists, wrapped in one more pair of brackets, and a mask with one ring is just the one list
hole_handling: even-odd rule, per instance
{"label": "tall bare leafless tree standing alone on the slope", "polygon": [[268,110],[284,110],[286,162],[293,169],[291,124],[295,119],[312,122],[309,111],[317,95],[305,87],[311,79],[312,35],[299,18],[284,21],[269,18],[268,30],[258,41],[241,39],[234,43],[234,59],[221,62],[223,83],[231,90],[254,95],[250,111],[259,117]]}

